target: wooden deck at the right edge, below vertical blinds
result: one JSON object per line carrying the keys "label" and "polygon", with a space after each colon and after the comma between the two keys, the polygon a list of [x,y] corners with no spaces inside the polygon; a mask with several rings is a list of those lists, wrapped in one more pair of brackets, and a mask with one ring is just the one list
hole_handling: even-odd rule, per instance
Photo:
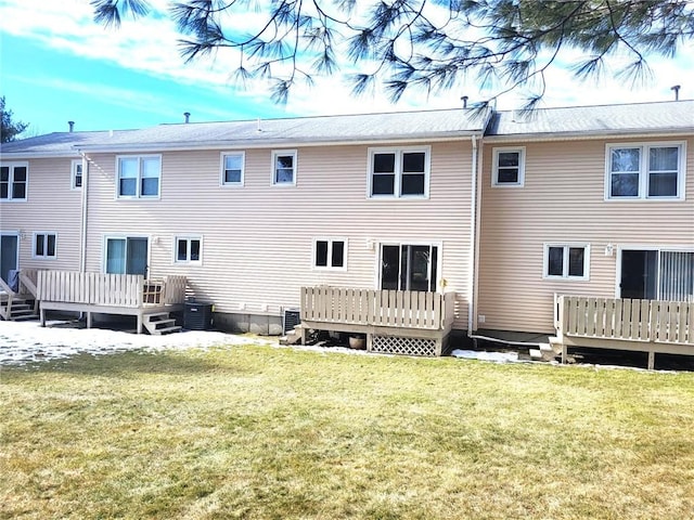
{"label": "wooden deck at the right edge, below vertical blinds", "polygon": [[694,355],[694,302],[557,296],[556,342],[568,347]]}

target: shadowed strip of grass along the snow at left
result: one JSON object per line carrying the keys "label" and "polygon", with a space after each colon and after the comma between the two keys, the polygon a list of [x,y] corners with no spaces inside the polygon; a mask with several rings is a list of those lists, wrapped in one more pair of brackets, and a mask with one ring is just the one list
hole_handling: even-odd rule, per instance
{"label": "shadowed strip of grass along the snow at left", "polygon": [[246,372],[224,356],[197,352],[113,352],[103,354],[78,353],[69,358],[29,362],[22,366],[4,367],[8,374],[21,372],[54,372],[82,376],[127,378],[136,374],[194,375],[208,372],[240,374]]}

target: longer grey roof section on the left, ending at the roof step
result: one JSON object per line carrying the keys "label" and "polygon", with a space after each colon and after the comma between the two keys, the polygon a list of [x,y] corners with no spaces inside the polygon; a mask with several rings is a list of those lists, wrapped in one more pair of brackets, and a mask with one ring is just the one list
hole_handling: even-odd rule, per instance
{"label": "longer grey roof section on the left, ending at the roof step", "polygon": [[8,143],[3,154],[190,150],[460,139],[481,134],[488,113],[444,109],[245,121],[158,125],[140,130],[64,132]]}

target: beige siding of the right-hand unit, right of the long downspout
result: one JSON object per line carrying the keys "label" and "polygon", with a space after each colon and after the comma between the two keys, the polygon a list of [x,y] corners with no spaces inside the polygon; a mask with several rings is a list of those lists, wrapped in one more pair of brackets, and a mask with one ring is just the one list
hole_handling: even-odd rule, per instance
{"label": "beige siding of the right-hand unit, right of the long downspout", "polygon": [[[682,138],[660,141],[682,141]],[[553,295],[614,298],[617,250],[628,246],[694,248],[694,140],[686,139],[684,202],[605,200],[605,145],[658,140],[503,143],[525,146],[525,186],[491,186],[496,144],[486,143],[481,176],[478,328],[553,332]],[[590,280],[544,280],[543,245],[590,244]],[[612,244],[614,253],[605,255]]]}

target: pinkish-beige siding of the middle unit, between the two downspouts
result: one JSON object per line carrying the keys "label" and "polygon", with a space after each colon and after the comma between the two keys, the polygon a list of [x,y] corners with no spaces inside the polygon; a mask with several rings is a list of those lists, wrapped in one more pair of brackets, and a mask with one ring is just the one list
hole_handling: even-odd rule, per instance
{"label": "pinkish-beige siding of the middle unit, between the two downspouts", "polygon": [[[94,155],[88,270],[103,270],[105,235],[144,235],[151,276],[187,275],[218,312],[278,314],[298,307],[305,285],[374,288],[381,242],[439,243],[441,277],[459,292],[455,326],[466,328],[470,141],[432,145],[428,199],[369,199],[368,148],[292,147],[295,186],[272,185],[272,152],[281,147],[244,151],[243,186],[220,185],[220,151],[165,152],[157,200],[116,199],[115,155]],[[176,236],[202,237],[202,264],[174,263]],[[347,239],[346,271],[312,268],[317,237]]]}

